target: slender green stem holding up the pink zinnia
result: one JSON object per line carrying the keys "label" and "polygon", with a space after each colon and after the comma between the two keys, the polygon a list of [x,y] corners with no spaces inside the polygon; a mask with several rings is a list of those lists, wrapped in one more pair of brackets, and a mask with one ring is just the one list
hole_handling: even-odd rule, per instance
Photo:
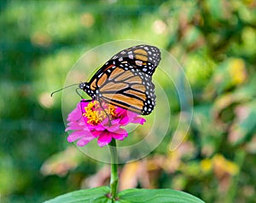
{"label": "slender green stem holding up the pink zinnia", "polygon": [[110,155],[111,155],[111,178],[110,178],[110,194],[111,199],[115,200],[118,192],[119,174],[118,174],[118,154],[116,150],[115,139],[109,143]]}

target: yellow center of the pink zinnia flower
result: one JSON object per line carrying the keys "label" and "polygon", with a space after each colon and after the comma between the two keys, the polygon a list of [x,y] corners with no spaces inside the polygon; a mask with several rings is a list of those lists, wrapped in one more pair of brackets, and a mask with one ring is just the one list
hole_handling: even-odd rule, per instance
{"label": "yellow center of the pink zinnia flower", "polygon": [[97,101],[90,102],[87,107],[84,107],[83,116],[88,119],[88,124],[97,125],[101,123],[102,120],[106,119],[106,113],[108,113],[109,119],[115,118],[115,107],[113,105],[104,103],[102,104],[102,107]]}

